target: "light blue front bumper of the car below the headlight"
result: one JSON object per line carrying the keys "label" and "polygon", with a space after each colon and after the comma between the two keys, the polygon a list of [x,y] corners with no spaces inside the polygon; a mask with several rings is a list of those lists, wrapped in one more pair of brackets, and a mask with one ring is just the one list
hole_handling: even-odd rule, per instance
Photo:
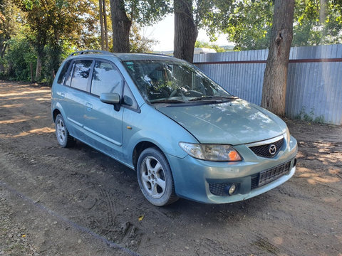
{"label": "light blue front bumper of the car below the headlight", "polygon": [[[290,142],[286,143],[286,148],[279,151],[274,159],[256,156],[246,145],[236,146],[235,149],[242,153],[244,161],[213,162],[194,159],[192,156],[180,159],[168,155],[177,196],[202,203],[232,203],[258,196],[294,176],[297,143],[293,137]],[[274,169],[286,163],[288,163],[289,170],[286,174],[262,186],[253,185],[253,180],[261,171]],[[237,185],[237,191],[232,196],[223,194],[217,196],[210,189],[212,184],[229,183]]]}

